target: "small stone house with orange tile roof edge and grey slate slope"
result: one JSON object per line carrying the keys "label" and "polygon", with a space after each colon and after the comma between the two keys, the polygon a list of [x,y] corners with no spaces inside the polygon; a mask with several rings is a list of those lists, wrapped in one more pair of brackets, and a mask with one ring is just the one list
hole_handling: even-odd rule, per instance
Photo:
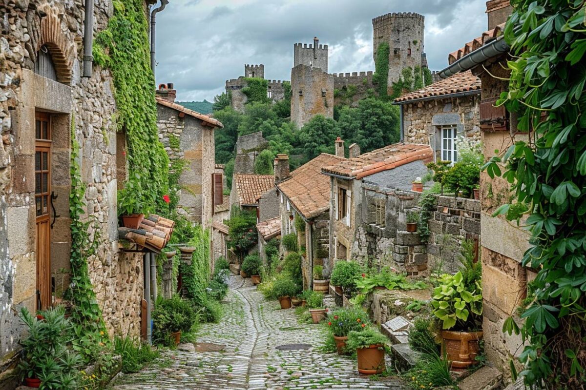
{"label": "small stone house with orange tile roof edge and grey slate slope", "polygon": [[[397,231],[406,230],[405,213],[391,212],[395,205],[387,204],[389,198],[384,195],[391,190],[403,194],[411,202],[401,210],[413,208],[411,181],[427,173],[425,164],[431,160],[432,150],[427,144],[397,143],[322,168],[321,173],[330,179],[330,267],[338,260],[367,261],[367,256],[355,258],[364,255],[360,242],[366,239],[360,236],[366,226],[366,231],[379,231],[378,240],[387,237],[387,247],[393,244]],[[380,187],[386,189],[381,191]],[[373,253],[376,257],[384,255]]]}

